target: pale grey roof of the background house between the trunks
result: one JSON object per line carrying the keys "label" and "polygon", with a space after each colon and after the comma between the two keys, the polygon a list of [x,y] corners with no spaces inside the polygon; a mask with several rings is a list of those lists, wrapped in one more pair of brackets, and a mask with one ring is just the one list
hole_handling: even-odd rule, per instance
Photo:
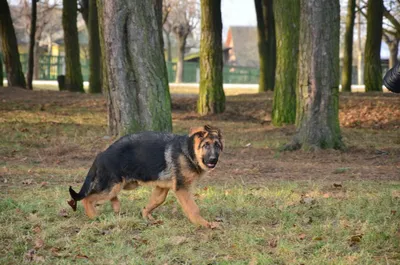
{"label": "pale grey roof of the background house between the trunks", "polygon": [[259,66],[256,26],[230,27],[225,46],[232,48],[232,53],[236,57],[231,63],[248,67]]}

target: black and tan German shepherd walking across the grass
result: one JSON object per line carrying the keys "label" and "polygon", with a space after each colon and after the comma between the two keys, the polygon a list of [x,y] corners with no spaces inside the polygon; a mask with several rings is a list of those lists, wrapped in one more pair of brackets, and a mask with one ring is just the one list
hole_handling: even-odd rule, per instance
{"label": "black and tan German shepherd walking across the grass", "polygon": [[151,212],[160,206],[173,190],[189,220],[208,228],[216,223],[200,216],[191,194],[197,179],[215,168],[223,150],[221,131],[205,125],[191,129],[189,135],[142,132],[126,135],[97,155],[79,193],[69,188],[68,204],[76,211],[82,200],[89,218],[96,216],[95,205],[110,200],[118,213],[121,190],[139,185],[154,187],[142,216],[153,221]]}

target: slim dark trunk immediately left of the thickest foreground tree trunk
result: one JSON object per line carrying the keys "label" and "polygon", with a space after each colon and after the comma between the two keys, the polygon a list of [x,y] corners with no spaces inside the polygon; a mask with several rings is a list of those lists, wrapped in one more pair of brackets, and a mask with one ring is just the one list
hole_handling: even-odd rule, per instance
{"label": "slim dark trunk immediately left of the thickest foreground tree trunk", "polygon": [[101,49],[96,0],[89,0],[89,93],[101,93]]}

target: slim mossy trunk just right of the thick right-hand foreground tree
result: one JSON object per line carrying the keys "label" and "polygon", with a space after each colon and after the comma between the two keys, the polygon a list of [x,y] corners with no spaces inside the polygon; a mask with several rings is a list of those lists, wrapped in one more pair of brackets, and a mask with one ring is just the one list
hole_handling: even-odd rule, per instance
{"label": "slim mossy trunk just right of the thick right-hand foreground tree", "polygon": [[351,92],[353,72],[353,32],[356,15],[356,0],[349,0],[347,4],[346,31],[344,33],[342,91]]}

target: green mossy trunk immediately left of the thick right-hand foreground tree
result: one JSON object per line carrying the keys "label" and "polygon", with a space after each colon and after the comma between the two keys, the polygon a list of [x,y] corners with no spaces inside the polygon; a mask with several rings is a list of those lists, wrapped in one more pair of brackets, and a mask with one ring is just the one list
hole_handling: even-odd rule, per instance
{"label": "green mossy trunk immediately left of the thick right-hand foreground tree", "polygon": [[[300,0],[275,1],[277,63],[272,123],[293,124],[296,120],[296,84],[299,50]],[[284,16],[282,14],[285,14]]]}

